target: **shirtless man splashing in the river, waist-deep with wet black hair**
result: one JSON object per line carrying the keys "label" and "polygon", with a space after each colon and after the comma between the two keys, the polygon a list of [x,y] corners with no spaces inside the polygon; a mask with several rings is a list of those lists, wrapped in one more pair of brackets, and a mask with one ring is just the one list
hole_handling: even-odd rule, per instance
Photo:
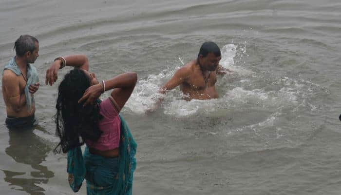
{"label": "shirtless man splashing in the river, waist-deep with wet black hair", "polygon": [[[191,60],[185,66],[177,70],[174,76],[159,90],[166,94],[167,91],[180,85],[187,101],[191,99],[218,98],[215,90],[217,75],[232,72],[219,65],[221,59],[220,49],[214,42],[204,42],[199,50],[198,58]],[[159,98],[157,104],[162,101]],[[150,111],[155,110],[155,105]]]}

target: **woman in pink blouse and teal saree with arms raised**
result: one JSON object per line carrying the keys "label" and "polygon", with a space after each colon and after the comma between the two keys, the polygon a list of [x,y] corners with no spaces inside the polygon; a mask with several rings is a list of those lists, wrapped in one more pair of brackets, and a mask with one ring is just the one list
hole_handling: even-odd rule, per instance
{"label": "woman in pink blouse and teal saree with arms raised", "polygon": [[[75,68],[58,87],[55,121],[60,142],[55,150],[68,153],[71,188],[77,192],[85,178],[88,195],[131,195],[136,143],[119,112],[133,92],[136,73],[99,82],[89,72],[86,56],[71,55],[55,59],[45,83],[56,82],[58,70],[65,66]],[[111,96],[98,99],[107,90],[112,90]]]}

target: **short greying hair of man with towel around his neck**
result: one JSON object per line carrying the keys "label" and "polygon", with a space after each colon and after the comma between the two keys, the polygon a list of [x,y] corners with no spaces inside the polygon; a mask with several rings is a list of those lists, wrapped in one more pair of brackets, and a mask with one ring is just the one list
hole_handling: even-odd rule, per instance
{"label": "short greying hair of man with towel around his neck", "polygon": [[33,52],[36,48],[36,42],[39,43],[38,39],[31,35],[21,35],[19,39],[14,43],[17,56],[23,56],[26,52]]}

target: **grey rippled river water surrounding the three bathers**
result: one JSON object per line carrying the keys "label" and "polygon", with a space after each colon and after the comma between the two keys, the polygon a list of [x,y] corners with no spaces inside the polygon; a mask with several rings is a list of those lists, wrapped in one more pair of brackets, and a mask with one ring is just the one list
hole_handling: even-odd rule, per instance
{"label": "grey rippled river water surrounding the three bathers", "polygon": [[[70,54],[99,79],[138,74],[122,110],[138,143],[134,195],[341,194],[339,0],[0,0],[0,26],[2,65],[20,35],[39,39],[42,84],[33,129],[8,131],[0,100],[1,195],[73,194],[52,151],[57,84],[44,84]],[[176,88],[145,115],[208,40],[234,71],[218,77],[220,97],[186,102]]]}

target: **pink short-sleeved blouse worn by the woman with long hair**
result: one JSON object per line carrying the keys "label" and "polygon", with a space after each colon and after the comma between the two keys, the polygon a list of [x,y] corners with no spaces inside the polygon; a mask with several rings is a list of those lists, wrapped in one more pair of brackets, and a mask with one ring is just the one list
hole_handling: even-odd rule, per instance
{"label": "pink short-sleeved blouse worn by the woman with long hair", "polygon": [[99,114],[103,118],[99,121],[99,129],[103,132],[96,142],[85,140],[88,147],[100,151],[118,148],[121,130],[121,119],[118,116],[117,104],[113,98],[107,98],[100,103]]}

